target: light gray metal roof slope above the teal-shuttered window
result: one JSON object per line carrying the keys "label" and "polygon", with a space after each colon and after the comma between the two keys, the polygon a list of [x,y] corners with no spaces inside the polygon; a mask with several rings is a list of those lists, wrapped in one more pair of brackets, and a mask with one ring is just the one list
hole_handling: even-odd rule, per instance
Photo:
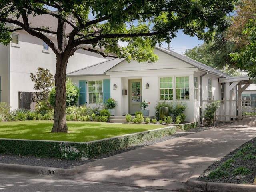
{"label": "light gray metal roof slope above the teal-shuttered window", "polygon": [[67,74],[67,76],[83,76],[83,75],[104,75],[108,70],[125,60],[124,58],[113,58],[106,60]]}

